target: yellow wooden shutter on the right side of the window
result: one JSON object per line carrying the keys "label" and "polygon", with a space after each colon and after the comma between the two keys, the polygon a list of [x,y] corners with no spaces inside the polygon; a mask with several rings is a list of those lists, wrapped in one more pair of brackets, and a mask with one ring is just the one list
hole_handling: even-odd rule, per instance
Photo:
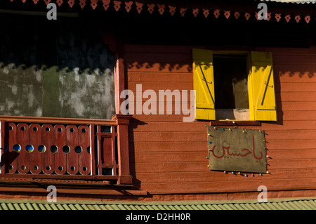
{"label": "yellow wooden shutter on the right side of the window", "polygon": [[248,79],[251,119],[277,121],[271,52],[251,51]]}

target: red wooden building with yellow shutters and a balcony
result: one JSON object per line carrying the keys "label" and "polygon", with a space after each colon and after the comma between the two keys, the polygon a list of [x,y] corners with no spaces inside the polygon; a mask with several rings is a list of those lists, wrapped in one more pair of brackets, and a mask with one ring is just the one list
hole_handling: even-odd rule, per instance
{"label": "red wooden building with yellow shutters and a balcony", "polygon": [[[0,198],[315,198],[315,9],[1,1]],[[262,132],[265,171],[213,170],[208,128]]]}

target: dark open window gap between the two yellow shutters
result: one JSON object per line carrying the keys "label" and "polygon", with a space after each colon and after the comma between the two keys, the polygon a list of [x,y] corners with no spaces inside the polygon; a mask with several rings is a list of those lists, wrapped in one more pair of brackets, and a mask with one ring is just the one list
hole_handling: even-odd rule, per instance
{"label": "dark open window gap between the two yellow shutters", "polygon": [[213,55],[216,109],[248,109],[246,55]]}

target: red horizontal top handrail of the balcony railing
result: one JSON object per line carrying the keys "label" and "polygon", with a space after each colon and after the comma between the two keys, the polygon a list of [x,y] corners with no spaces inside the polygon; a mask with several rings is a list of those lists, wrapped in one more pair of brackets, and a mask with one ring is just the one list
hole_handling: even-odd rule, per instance
{"label": "red horizontal top handrail of the balcony railing", "polygon": [[49,124],[97,124],[105,126],[117,126],[117,119],[85,119],[64,117],[21,117],[0,115],[1,121],[23,122],[23,123],[49,123]]}

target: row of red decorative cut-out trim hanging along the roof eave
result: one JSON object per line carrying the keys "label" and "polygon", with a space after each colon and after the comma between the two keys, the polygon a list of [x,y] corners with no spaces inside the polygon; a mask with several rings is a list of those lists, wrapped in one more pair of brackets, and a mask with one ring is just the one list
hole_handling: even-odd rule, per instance
{"label": "row of red decorative cut-out trim hanging along the roof eave", "polygon": [[[37,2],[39,0],[33,0],[34,4],[37,4]],[[44,3],[47,5],[48,3],[51,2],[51,0],[43,0]],[[139,0],[138,0],[139,1]],[[129,13],[131,11],[131,9],[133,7],[136,8],[136,10],[138,11],[138,13],[143,11],[143,6],[144,4],[142,2],[138,2],[138,1],[124,1],[124,8],[126,10],[126,13]],[[11,2],[13,2],[13,0],[11,0]],[[25,3],[25,0],[22,0],[23,3]],[[89,2],[90,4],[86,4],[86,2]],[[62,0],[58,0],[57,4],[58,6],[61,6],[63,3]],[[133,4],[135,3],[135,4]],[[122,1],[115,1],[115,0],[102,0],[102,1],[98,1],[98,0],[90,0],[90,1],[86,1],[86,0],[79,0],[76,3],[74,2],[74,0],[68,0],[67,4],[70,6],[70,8],[72,8],[72,6],[74,6],[74,4],[79,4],[79,6],[81,8],[84,8],[86,5],[91,6],[91,8],[93,8],[93,10],[95,10],[98,6],[100,8],[100,6],[103,6],[104,10],[107,11],[107,9],[109,7],[113,7],[115,11],[121,11],[121,5],[122,5]],[[194,4],[192,1],[192,6],[188,6],[187,8],[183,8],[182,6],[183,4],[177,4],[177,6],[175,6],[174,4],[172,6],[170,5],[164,5],[164,4],[159,4],[159,3],[147,3],[145,7],[147,7],[147,13],[152,14],[154,11],[157,11],[157,13],[159,13],[159,15],[163,15],[165,12],[165,7],[168,6],[169,8],[169,13],[171,16],[177,15],[177,13],[179,12],[180,15],[183,17],[185,14],[185,11],[187,10],[187,8],[190,8],[190,11],[192,11],[191,15],[194,15],[195,17],[197,17],[197,15],[199,14],[199,9],[203,10],[203,15],[205,18],[207,18],[209,16],[209,10],[216,8],[216,7],[220,7],[222,8],[222,6],[218,6],[218,4],[209,4],[209,5],[205,5],[205,4],[201,4],[201,5],[197,5]],[[289,6],[289,4],[283,4],[284,6]],[[249,20],[249,18],[257,18],[257,13],[258,12],[254,12],[254,4],[247,4],[244,5],[244,7],[246,7],[246,9],[241,8],[242,6],[236,6],[236,5],[230,5],[230,6],[225,6],[225,8],[223,8],[222,10],[216,9],[216,11],[214,11],[214,17],[215,18],[219,18],[219,15],[224,15],[227,19],[230,17],[230,11],[234,11],[237,14],[235,15],[235,19],[239,18],[239,12],[238,11],[244,11],[244,18],[246,20]],[[310,22],[310,16],[312,15],[312,11],[310,11],[310,8],[308,8],[308,6],[306,6],[306,8],[301,8],[301,9],[296,9],[294,8],[296,7],[296,4],[293,4],[292,8],[286,8],[282,7],[282,4],[279,4],[278,6],[275,4],[275,6],[272,8],[272,6],[270,6],[270,11],[273,11],[275,14],[275,20],[272,21],[277,21],[279,22],[279,20],[281,18],[284,18],[287,22],[289,22],[289,20],[291,19],[290,15],[294,15],[294,17],[296,18],[296,22],[300,22],[301,20],[301,16],[303,16],[305,18],[305,22],[308,23]],[[302,12],[305,15],[302,15]],[[269,14],[269,18],[268,21],[270,21],[270,14]],[[285,14],[285,15],[284,15]],[[302,20],[302,22],[304,22]]]}

